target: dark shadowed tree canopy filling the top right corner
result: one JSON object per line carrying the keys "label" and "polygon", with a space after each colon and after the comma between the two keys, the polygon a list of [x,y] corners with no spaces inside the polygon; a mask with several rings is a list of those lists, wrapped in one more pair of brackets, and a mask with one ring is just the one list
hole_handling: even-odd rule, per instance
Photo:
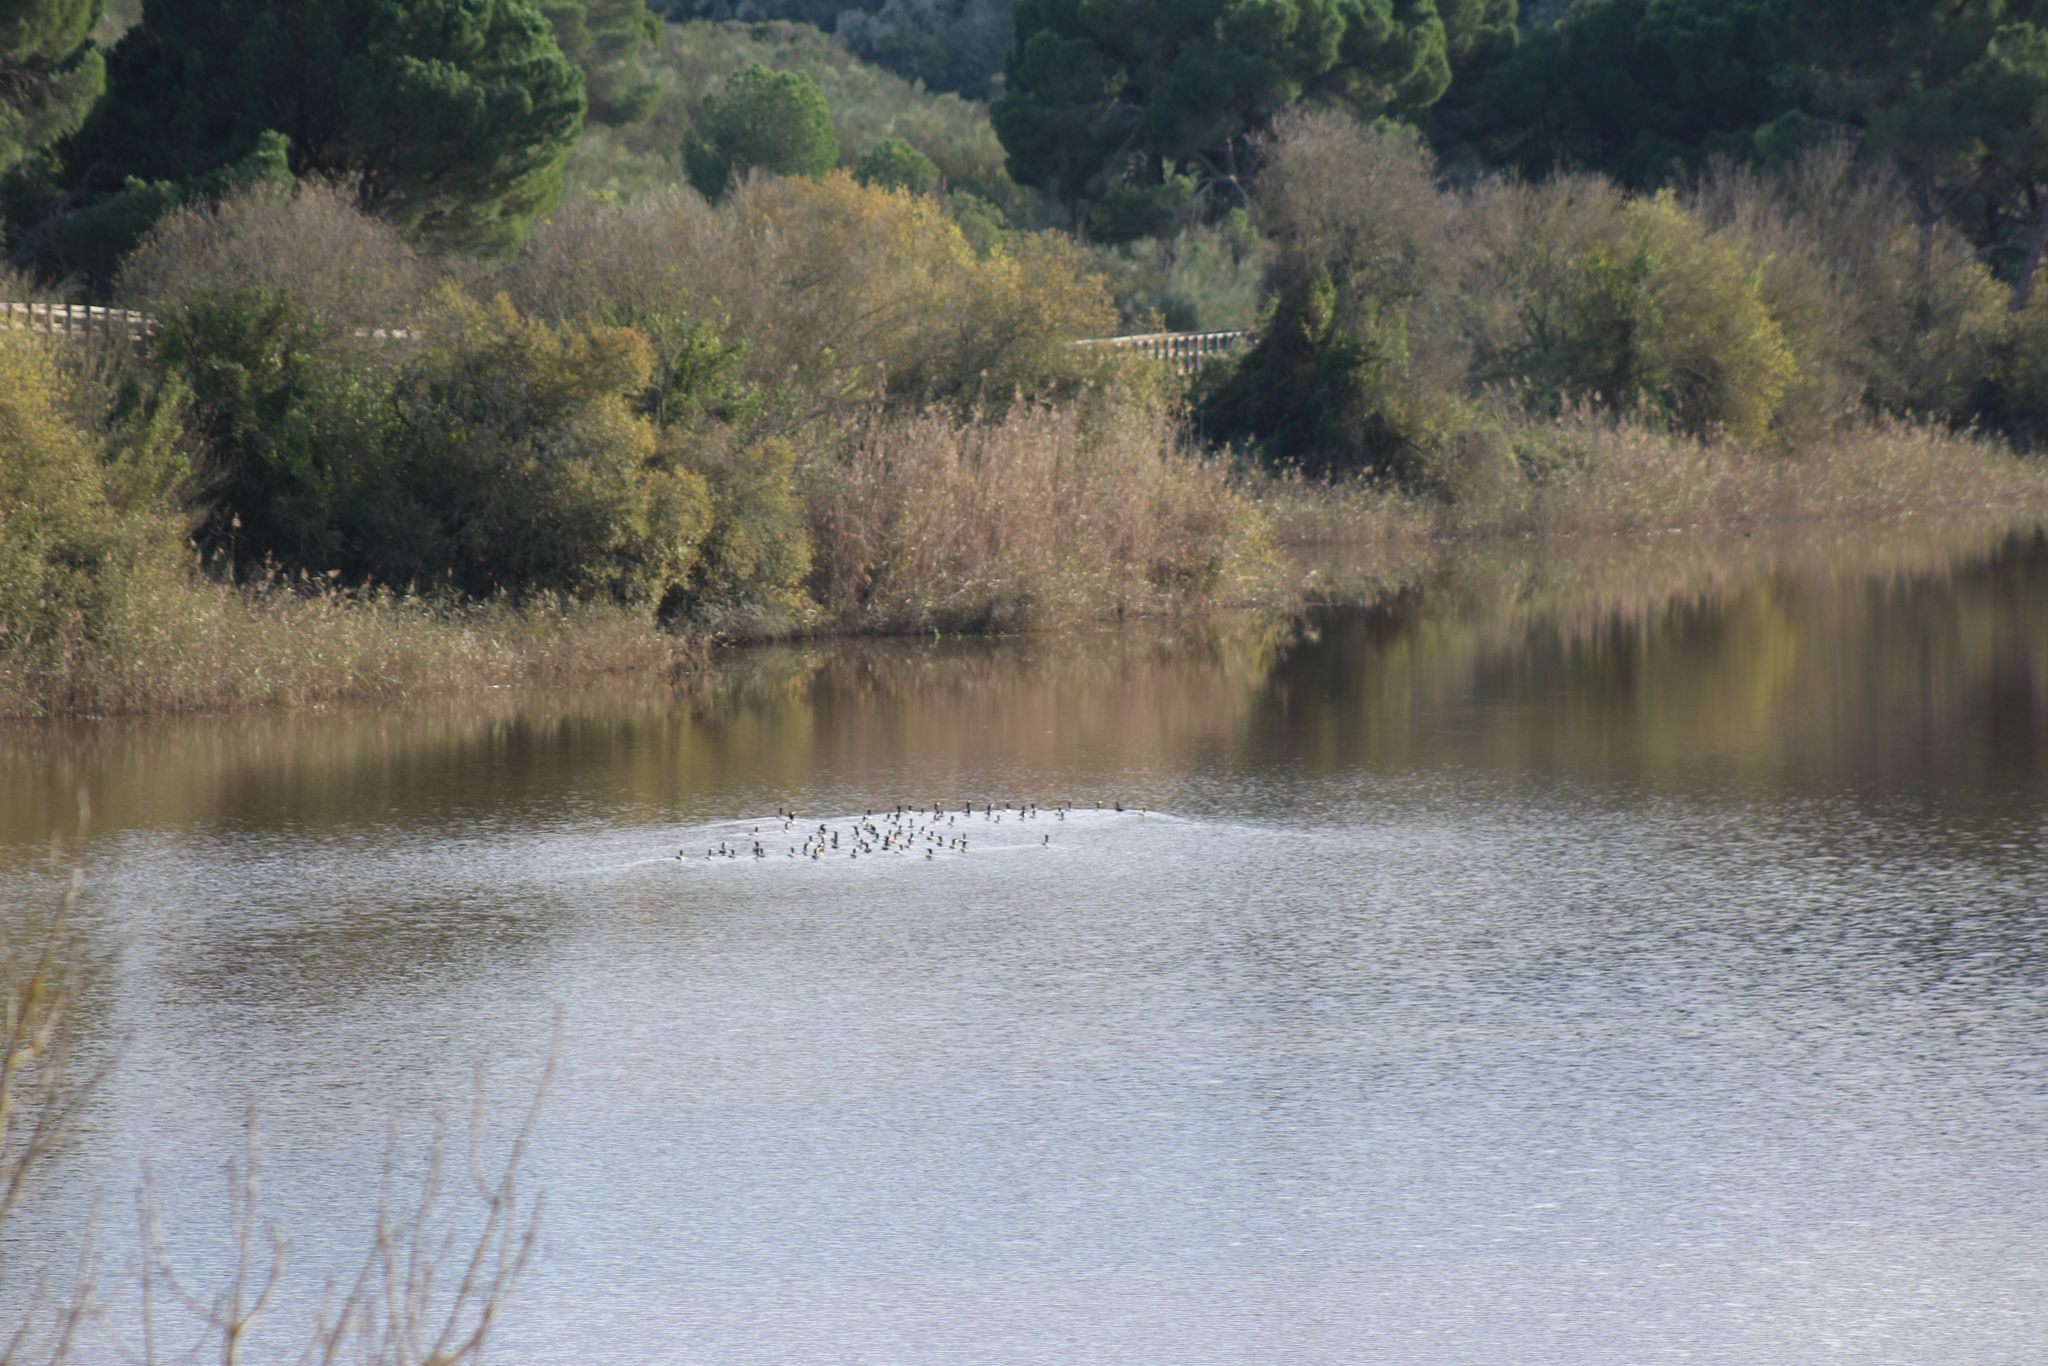
{"label": "dark shadowed tree canopy filling the top right corner", "polygon": [[1475,109],[1497,160],[1630,184],[1851,135],[1923,225],[1966,213],[2021,287],[2048,233],[2044,0],[1577,0]]}

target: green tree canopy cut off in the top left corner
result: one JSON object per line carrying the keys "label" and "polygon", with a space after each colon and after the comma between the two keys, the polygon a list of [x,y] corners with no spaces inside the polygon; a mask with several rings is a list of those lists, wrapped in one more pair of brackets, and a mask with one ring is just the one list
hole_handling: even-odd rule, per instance
{"label": "green tree canopy cut off in the top left corner", "polygon": [[106,84],[100,0],[0,0],[0,176],[84,123]]}

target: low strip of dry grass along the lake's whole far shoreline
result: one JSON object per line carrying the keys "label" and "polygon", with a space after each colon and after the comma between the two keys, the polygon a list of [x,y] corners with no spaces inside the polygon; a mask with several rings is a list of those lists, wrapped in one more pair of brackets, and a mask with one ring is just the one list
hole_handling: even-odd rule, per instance
{"label": "low strip of dry grass along the lake's whole far shoreline", "polygon": [[[1292,539],[1272,547],[1276,573],[1266,590],[1239,598],[1151,604],[1081,618],[1042,618],[985,631],[905,627],[901,623],[817,623],[795,631],[715,635],[676,633],[625,608],[573,602],[463,604],[393,594],[313,590],[295,584],[229,588],[195,584],[236,629],[219,641],[227,655],[203,676],[137,686],[145,661],[86,659],[88,678],[70,680],[72,696],[106,696],[123,686],[131,705],[25,705],[0,674],[0,729],[100,723],[145,717],[229,715],[242,711],[322,711],[373,702],[414,702],[504,688],[582,686],[637,680],[680,686],[741,659],[745,651],[844,645],[856,641],[999,641],[1053,639],[1065,633],[1167,625],[1235,612],[1303,614],[1372,608],[1405,594],[1475,584],[1563,580],[1604,602],[1645,608],[1645,598],[1673,598],[1708,586],[1745,584],[1786,565],[1839,575],[1933,571],[1995,551],[2001,543],[2048,535],[2048,496],[2032,506],[1898,506],[1882,516],[1782,510],[1661,526],[1411,526],[1386,539]],[[186,641],[193,647],[213,641]],[[82,684],[82,686],[80,686]]]}

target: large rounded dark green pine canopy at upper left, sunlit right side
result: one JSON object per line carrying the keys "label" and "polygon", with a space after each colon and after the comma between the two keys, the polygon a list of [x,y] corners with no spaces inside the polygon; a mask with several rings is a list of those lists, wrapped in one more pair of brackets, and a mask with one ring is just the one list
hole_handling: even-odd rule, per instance
{"label": "large rounded dark green pine canopy at upper left, sunlit right side", "polygon": [[532,0],[147,0],[109,86],[78,154],[94,188],[184,184],[283,137],[293,174],[469,250],[557,199],[584,119]]}

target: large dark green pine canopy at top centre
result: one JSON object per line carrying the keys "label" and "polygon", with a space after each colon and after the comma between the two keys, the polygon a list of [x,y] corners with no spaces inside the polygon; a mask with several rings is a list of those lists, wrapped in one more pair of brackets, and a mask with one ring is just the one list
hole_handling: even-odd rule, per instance
{"label": "large dark green pine canopy at top centre", "polygon": [[1243,203],[1247,137],[1274,115],[1423,109],[1499,10],[1454,4],[1452,37],[1436,0],[1020,0],[995,133],[1012,176],[1067,203],[1180,172]]}

